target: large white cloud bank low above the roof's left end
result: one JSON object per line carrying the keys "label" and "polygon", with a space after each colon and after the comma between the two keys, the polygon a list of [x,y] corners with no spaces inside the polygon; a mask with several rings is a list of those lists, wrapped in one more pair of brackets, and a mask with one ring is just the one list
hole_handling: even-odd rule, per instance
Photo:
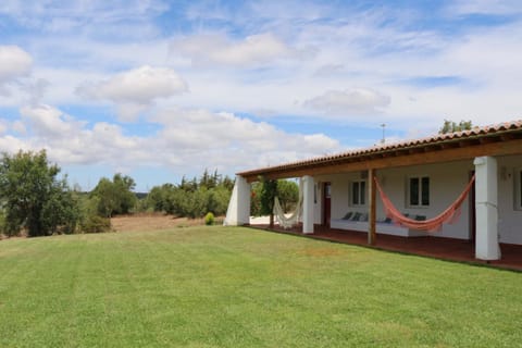
{"label": "large white cloud bank low above the roof's left end", "polygon": [[176,149],[163,154],[184,165],[196,162],[216,169],[246,169],[340,150],[337,140],[323,134],[287,133],[228,112],[170,109],[154,121],[163,125],[157,147]]}

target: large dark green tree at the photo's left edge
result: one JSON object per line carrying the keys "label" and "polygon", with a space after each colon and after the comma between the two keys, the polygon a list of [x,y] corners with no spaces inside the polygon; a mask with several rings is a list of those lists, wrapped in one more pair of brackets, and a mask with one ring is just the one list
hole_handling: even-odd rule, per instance
{"label": "large dark green tree at the photo's left edge", "polygon": [[16,235],[26,228],[30,237],[72,233],[79,220],[78,203],[66,177],[58,179],[60,167],[49,164],[46,151],[2,154],[0,197],[4,210],[4,233]]}

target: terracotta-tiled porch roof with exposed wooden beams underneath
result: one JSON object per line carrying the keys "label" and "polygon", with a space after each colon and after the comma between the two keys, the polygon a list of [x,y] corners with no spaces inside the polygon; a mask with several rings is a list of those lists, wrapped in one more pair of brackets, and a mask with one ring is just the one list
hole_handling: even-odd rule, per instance
{"label": "terracotta-tiled porch roof with exposed wooden beams underneath", "polygon": [[522,120],[237,173],[248,182],[522,154]]}

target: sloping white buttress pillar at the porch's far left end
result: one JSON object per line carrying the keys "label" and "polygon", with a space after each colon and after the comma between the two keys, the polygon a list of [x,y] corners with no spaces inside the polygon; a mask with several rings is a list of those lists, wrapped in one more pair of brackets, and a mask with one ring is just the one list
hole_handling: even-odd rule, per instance
{"label": "sloping white buttress pillar at the porch's far left end", "polygon": [[250,184],[243,176],[236,176],[234,189],[226,210],[225,226],[238,226],[250,223]]}

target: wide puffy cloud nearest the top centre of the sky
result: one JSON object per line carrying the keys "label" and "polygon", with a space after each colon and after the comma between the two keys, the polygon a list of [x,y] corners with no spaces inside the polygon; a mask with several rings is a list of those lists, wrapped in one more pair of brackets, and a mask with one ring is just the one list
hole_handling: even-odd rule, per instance
{"label": "wide puffy cloud nearest the top centre of the sky", "polygon": [[221,34],[197,35],[174,40],[170,51],[189,58],[196,65],[259,66],[299,55],[298,50],[271,33],[247,36],[240,41],[231,41]]}

